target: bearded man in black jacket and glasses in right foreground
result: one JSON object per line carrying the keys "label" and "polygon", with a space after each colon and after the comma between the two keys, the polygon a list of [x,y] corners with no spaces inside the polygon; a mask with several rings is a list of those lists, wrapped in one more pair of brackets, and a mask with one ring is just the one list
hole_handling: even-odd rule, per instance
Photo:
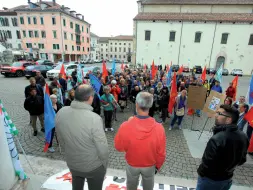
{"label": "bearded man in black jacket and glasses in right foreground", "polygon": [[239,112],[221,105],[215,116],[214,135],[208,141],[198,168],[196,190],[228,190],[234,170],[246,162],[249,141],[237,128]]}

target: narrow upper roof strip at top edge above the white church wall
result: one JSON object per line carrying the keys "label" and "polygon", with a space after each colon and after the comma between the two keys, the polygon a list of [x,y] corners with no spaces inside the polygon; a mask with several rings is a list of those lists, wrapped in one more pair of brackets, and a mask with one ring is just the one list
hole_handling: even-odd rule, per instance
{"label": "narrow upper roof strip at top edge above the white church wall", "polygon": [[142,0],[143,5],[253,5],[252,0]]}

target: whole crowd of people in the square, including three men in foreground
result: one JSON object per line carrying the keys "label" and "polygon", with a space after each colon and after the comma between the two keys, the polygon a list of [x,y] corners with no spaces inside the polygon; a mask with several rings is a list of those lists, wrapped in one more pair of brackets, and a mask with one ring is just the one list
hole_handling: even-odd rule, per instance
{"label": "whole crowd of people in the square, including three men in foreground", "polygon": [[[245,97],[240,96],[239,101],[234,102],[236,89],[232,83],[223,92],[214,75],[203,81],[194,73],[189,76],[178,74],[178,96],[173,105],[174,114],[170,115],[168,107],[173,79],[168,82],[166,68],[159,68],[155,77],[152,77],[147,69],[125,68],[114,75],[109,73],[109,76],[103,76],[103,73],[98,71],[93,74],[101,81],[99,92],[94,92],[89,85],[88,74],[84,77],[84,84],[78,83],[77,71],[69,76],[71,89],[68,88],[68,81],[62,74],[51,82],[49,89],[52,106],[56,113],[59,111],[55,120],[56,131],[64,142],[74,190],[81,190],[85,179],[90,190],[102,189],[108,164],[105,132],[114,131],[112,121],[117,120],[117,112],[125,112],[130,107],[132,117],[121,124],[115,136],[115,148],[126,153],[127,188],[136,190],[141,174],[144,190],[153,189],[154,174],[160,170],[166,157],[164,127],[172,130],[177,122],[178,128],[182,129],[182,121],[189,110],[187,91],[191,85],[207,88],[207,97],[211,90],[226,93],[224,104],[215,116],[214,135],[207,144],[202,164],[198,169],[197,190],[231,187],[235,167],[246,162],[248,141],[253,131],[253,126],[248,123],[247,136],[243,133],[247,124],[244,115],[249,110]],[[25,88],[24,107],[30,113],[34,136],[37,135],[37,118],[41,123],[41,131],[45,131],[44,86],[45,79],[38,72],[35,78],[30,78],[30,85]],[[102,110],[104,120],[100,117]],[[197,116],[201,116],[201,110],[193,111]],[[161,119],[157,121],[154,119],[155,115]],[[173,118],[169,126],[166,126],[165,122],[170,116]],[[54,135],[50,143],[50,152],[54,152],[53,137]]]}

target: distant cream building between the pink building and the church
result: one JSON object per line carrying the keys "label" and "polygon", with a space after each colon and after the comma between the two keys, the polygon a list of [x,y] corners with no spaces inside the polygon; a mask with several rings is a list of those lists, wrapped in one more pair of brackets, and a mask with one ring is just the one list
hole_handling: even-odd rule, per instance
{"label": "distant cream building between the pink building and the church", "polygon": [[99,39],[100,58],[131,62],[133,54],[133,36],[120,35]]}

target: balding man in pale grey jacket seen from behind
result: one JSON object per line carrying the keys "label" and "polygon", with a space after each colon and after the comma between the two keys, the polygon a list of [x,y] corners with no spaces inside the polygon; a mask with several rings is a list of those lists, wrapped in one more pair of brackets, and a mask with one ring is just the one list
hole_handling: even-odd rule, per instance
{"label": "balding man in pale grey jacket seen from behind", "polygon": [[85,179],[89,190],[102,190],[108,163],[108,143],[102,118],[92,112],[94,91],[80,85],[71,106],[56,115],[56,131],[64,144],[67,165],[72,173],[72,189],[83,190]]}

